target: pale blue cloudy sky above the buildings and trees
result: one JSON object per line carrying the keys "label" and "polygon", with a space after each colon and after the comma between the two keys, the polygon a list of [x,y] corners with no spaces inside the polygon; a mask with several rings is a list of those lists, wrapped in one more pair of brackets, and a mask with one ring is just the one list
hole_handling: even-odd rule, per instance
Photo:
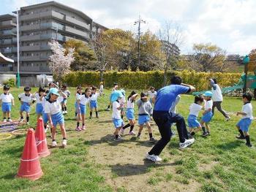
{"label": "pale blue cloudy sky above the buildings and trees", "polygon": [[[45,1],[1,0],[0,14],[17,7]],[[60,0],[79,9],[108,28],[136,31],[138,15],[146,20],[142,31],[158,34],[165,23],[175,23],[182,31],[184,54],[192,53],[194,43],[222,47],[229,54],[248,54],[256,48],[255,0]]]}

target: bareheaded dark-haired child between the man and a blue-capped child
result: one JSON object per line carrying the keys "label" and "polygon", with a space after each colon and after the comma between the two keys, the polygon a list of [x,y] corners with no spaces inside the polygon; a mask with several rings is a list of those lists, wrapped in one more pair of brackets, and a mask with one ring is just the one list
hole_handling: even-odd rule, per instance
{"label": "bareheaded dark-haired child between the man and a blue-capped child", "polygon": [[195,101],[189,107],[189,117],[187,118],[187,123],[189,125],[189,133],[194,137],[197,131],[202,129],[200,123],[197,120],[198,113],[202,110],[203,97],[195,96]]}

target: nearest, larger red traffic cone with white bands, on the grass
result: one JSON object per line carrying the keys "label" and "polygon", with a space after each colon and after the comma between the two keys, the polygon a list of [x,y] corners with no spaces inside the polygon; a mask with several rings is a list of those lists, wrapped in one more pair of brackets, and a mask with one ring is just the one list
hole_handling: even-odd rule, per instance
{"label": "nearest, larger red traffic cone with white bands, on the grass", "polygon": [[38,180],[42,177],[42,174],[39,156],[37,154],[36,140],[34,139],[34,130],[33,128],[29,128],[16,177]]}

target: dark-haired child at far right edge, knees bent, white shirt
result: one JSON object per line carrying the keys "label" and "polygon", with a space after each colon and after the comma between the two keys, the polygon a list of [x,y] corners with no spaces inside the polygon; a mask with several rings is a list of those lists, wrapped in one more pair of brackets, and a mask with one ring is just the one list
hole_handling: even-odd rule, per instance
{"label": "dark-haired child at far right edge, knees bent, white shirt", "polygon": [[238,135],[237,139],[246,139],[246,146],[252,147],[252,144],[249,139],[249,126],[252,123],[252,93],[247,92],[243,94],[243,102],[244,106],[242,107],[241,112],[237,112],[236,115],[243,115],[241,120],[236,124],[236,127],[238,128],[238,131],[240,135]]}

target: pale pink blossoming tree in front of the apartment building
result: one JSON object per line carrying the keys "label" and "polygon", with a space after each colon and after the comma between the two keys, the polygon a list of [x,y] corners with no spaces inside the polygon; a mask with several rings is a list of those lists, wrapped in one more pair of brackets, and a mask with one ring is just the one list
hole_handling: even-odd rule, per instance
{"label": "pale pink blossoming tree in front of the apartment building", "polygon": [[74,61],[74,49],[64,49],[59,42],[49,42],[50,49],[53,55],[50,55],[50,62],[48,64],[50,71],[56,81],[61,81],[65,74],[69,73],[70,64]]}

